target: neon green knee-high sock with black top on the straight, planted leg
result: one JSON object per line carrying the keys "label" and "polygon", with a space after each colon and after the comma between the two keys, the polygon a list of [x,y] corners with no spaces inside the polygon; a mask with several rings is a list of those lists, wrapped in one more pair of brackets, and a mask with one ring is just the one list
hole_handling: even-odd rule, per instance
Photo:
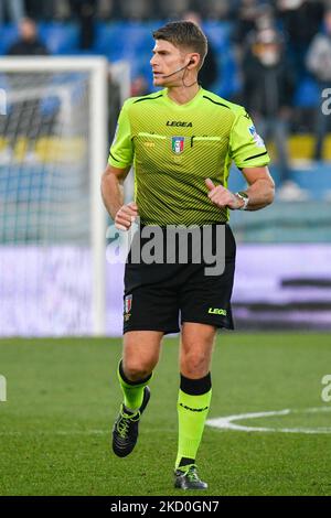
{"label": "neon green knee-high sock with black top on the straight, planted leg", "polygon": [[181,376],[178,398],[179,442],[175,468],[179,467],[182,458],[195,460],[211,398],[210,374],[202,379],[189,379]]}

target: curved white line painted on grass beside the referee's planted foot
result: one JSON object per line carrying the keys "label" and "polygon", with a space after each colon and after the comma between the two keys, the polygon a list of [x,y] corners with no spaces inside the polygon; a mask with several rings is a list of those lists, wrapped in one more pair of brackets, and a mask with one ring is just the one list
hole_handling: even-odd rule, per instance
{"label": "curved white line painted on grass beside the referee's planted foot", "polygon": [[270,418],[275,416],[290,416],[292,413],[319,413],[319,412],[331,412],[331,407],[317,407],[307,408],[301,410],[276,410],[269,412],[253,412],[253,413],[239,413],[238,416],[227,416],[222,418],[209,419],[206,424],[218,430],[234,430],[237,432],[271,432],[271,433],[331,433],[331,428],[267,428],[267,427],[245,427],[244,424],[237,424],[235,421],[246,421],[247,419],[260,419]]}

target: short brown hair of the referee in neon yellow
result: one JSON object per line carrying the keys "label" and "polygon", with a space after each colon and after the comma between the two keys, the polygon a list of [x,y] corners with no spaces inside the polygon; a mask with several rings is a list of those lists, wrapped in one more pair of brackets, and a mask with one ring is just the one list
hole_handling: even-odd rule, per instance
{"label": "short brown hair of the referee in neon yellow", "polygon": [[200,68],[209,50],[205,34],[193,22],[169,22],[153,32],[154,40],[166,40],[177,47],[192,48],[200,55]]}

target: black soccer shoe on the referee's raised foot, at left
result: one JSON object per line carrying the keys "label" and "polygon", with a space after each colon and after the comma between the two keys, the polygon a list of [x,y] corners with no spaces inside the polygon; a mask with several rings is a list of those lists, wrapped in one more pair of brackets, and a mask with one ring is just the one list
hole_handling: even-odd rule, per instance
{"label": "black soccer shoe on the referee's raised foot, at left", "polygon": [[117,456],[126,457],[136,446],[139,421],[149,399],[150,389],[145,387],[142,403],[138,412],[134,414],[125,413],[125,407],[121,404],[119,416],[113,428],[113,451]]}

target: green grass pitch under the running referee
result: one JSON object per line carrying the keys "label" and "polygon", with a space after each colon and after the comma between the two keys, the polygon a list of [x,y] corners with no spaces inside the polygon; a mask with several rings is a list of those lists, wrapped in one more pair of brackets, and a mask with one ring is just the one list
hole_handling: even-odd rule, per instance
{"label": "green grass pitch under the running referee", "polygon": [[[179,495],[178,339],[167,338],[139,442],[110,451],[120,403],[120,339],[2,339],[0,495]],[[301,413],[242,421],[270,428],[331,425],[321,379],[331,374],[328,334],[221,333],[210,418],[282,409]],[[305,413],[307,408],[327,408]],[[197,457],[205,495],[331,495],[331,434],[206,428]],[[194,493],[191,492],[193,495]],[[199,493],[201,495],[201,493]]]}

